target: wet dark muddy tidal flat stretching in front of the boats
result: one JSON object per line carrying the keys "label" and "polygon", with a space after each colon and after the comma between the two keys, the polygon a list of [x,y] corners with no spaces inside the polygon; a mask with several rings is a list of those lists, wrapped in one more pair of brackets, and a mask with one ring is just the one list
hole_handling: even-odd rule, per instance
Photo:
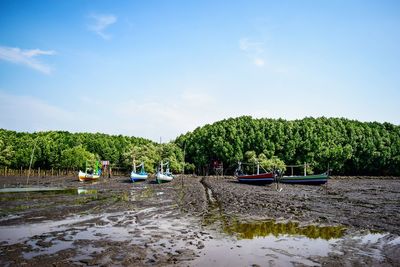
{"label": "wet dark muddy tidal flat stretching in front of the boats", "polygon": [[[26,182],[26,177],[0,177],[0,188]],[[127,177],[102,178],[97,183],[31,177],[29,185],[67,190],[0,193],[2,266],[229,262],[224,255],[220,261],[207,261],[213,253],[208,248],[215,244],[215,249],[226,246],[233,257],[239,256],[230,263],[238,266],[400,265],[397,178],[332,177],[324,186],[256,186],[237,183],[232,177],[178,176],[166,184],[156,184],[154,178],[132,184]],[[278,228],[280,235],[270,230]],[[286,238],[293,233],[307,235],[306,230],[320,239],[331,235],[326,239],[339,240],[343,234],[349,238],[329,241],[338,247],[335,252],[300,260],[273,248],[271,253],[261,251],[259,258],[243,252],[251,245],[241,239],[249,235],[285,234]],[[365,245],[357,241],[364,232],[382,234]],[[223,241],[218,243],[218,238]]]}

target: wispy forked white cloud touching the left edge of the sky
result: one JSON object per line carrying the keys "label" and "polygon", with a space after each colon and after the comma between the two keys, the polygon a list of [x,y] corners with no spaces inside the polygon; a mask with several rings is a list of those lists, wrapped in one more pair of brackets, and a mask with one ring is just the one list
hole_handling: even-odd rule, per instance
{"label": "wispy forked white cloud touching the left edge of the sky", "polygon": [[0,46],[0,59],[9,61],[15,64],[25,65],[34,70],[45,74],[50,74],[52,69],[50,66],[40,62],[35,57],[40,55],[52,56],[56,52],[53,50],[45,51],[40,49],[22,50],[17,47]]}

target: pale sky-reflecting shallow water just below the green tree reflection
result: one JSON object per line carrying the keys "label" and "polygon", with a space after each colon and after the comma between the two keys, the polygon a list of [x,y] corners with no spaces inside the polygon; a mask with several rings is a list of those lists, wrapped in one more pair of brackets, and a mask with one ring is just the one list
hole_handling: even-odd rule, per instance
{"label": "pale sky-reflecting shallow water just below the green tree reflection", "polygon": [[276,238],[229,240],[229,238],[207,241],[201,256],[193,266],[318,266],[312,258],[326,257],[335,240],[327,241],[287,235]]}

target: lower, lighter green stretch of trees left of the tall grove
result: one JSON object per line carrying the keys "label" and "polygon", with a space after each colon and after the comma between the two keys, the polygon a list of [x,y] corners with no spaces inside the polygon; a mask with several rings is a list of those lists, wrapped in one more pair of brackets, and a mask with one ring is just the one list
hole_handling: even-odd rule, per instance
{"label": "lower, lighter green stretch of trees left of the tall grove", "polygon": [[183,170],[183,154],[174,143],[157,144],[144,138],[101,133],[0,129],[0,166],[28,168],[32,153],[32,168],[82,170],[86,162],[108,160],[114,168],[129,170],[134,158],[137,164],[144,162],[149,173],[166,159],[174,172]]}

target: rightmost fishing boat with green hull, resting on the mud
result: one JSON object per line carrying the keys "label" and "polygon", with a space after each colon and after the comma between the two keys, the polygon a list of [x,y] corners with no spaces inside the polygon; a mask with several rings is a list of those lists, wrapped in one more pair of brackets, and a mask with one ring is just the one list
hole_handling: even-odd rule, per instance
{"label": "rightmost fishing boat with green hull, resting on the mud", "polygon": [[329,168],[328,171],[321,174],[307,175],[307,163],[304,164],[304,175],[293,175],[293,167],[300,167],[303,165],[289,165],[287,167],[292,168],[292,175],[281,176],[278,178],[280,183],[286,184],[309,184],[309,185],[321,185],[325,184],[329,179]]}

